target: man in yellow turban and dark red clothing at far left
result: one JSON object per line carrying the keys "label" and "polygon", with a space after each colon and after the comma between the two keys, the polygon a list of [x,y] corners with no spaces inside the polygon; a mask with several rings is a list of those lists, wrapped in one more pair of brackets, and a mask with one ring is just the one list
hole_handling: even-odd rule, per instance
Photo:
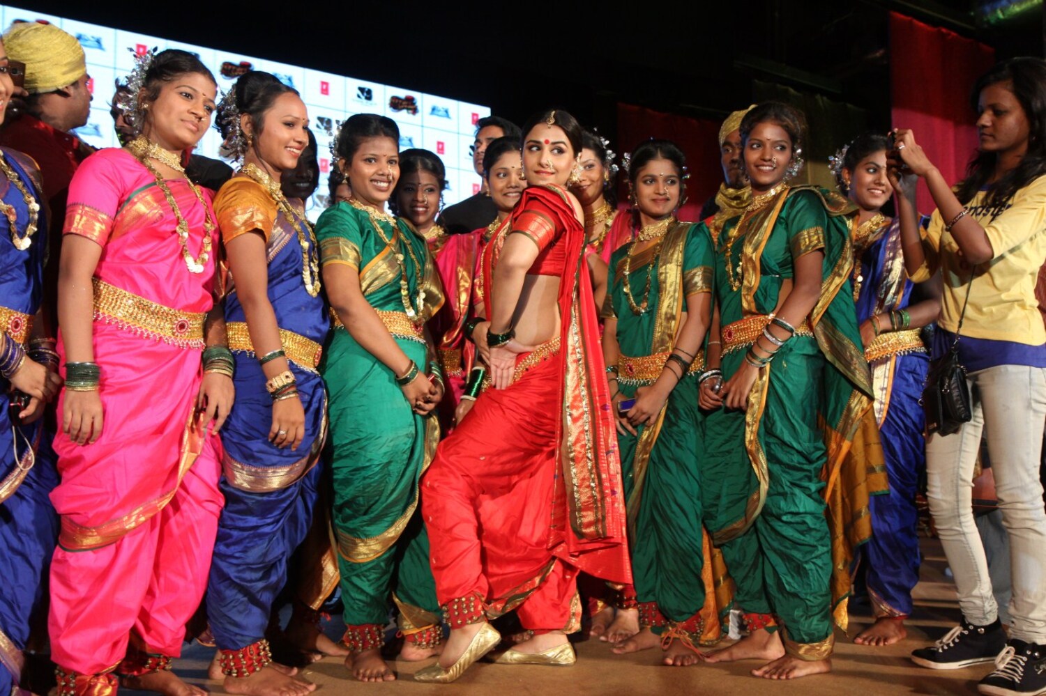
{"label": "man in yellow turban and dark red clothing at far left", "polygon": [[25,64],[25,113],[0,130],[0,145],[25,153],[40,165],[48,215],[48,264],[43,316],[54,335],[58,271],[69,182],[94,148],[72,134],[87,123],[91,92],[84,49],[53,24],[16,22],[3,34],[7,56]]}

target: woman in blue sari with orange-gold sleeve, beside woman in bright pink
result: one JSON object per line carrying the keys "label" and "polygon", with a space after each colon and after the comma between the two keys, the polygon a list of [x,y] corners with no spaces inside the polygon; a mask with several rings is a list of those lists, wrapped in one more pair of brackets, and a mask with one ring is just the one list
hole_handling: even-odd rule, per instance
{"label": "woman in blue sari with orange-gold sleeve, beside woman in bright pink", "polygon": [[[280,192],[309,143],[298,93],[273,75],[242,76],[220,118],[244,166],[214,213],[231,274],[225,319],[236,401],[225,447],[207,617],[230,694],[303,696],[316,687],[272,665],[265,640],[287,561],[309,532],[326,432],[316,370],[329,330],[316,238]],[[231,121],[231,122],[230,122]]]}

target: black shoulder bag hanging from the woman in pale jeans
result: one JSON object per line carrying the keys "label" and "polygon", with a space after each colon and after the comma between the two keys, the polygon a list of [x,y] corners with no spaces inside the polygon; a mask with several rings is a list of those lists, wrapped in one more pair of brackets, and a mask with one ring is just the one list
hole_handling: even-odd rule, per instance
{"label": "black shoulder bag hanging from the woman in pale jeans", "polygon": [[970,388],[967,386],[967,369],[959,363],[959,332],[970,303],[970,288],[973,287],[973,273],[967,284],[967,299],[962,302],[959,325],[955,329],[955,341],[947,353],[930,361],[930,369],[923,385],[923,411],[926,413],[926,434],[957,433],[962,423],[973,417]]}

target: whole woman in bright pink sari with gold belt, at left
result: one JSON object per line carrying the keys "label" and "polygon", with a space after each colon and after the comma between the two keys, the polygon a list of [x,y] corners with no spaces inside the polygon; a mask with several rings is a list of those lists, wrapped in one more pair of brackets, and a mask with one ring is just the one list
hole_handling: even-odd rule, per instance
{"label": "whole woman in bright pink sari with gold belt, at left", "polygon": [[217,87],[190,53],[151,57],[129,78],[141,135],[92,155],[69,188],[48,620],[60,696],[115,693],[116,675],[204,693],[169,669],[207,583],[222,508],[217,431],[232,402],[228,348],[201,361],[205,344],[224,342],[224,324],[207,321],[221,317],[210,194],[182,168]]}

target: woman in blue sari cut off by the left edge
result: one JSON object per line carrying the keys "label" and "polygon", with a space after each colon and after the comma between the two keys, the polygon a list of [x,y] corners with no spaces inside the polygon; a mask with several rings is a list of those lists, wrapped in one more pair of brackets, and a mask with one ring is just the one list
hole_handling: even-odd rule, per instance
{"label": "woman in blue sari cut off by the left edge", "polygon": [[[0,44],[0,102],[14,91],[17,70]],[[0,394],[16,390],[13,401],[25,395],[18,415],[8,411],[6,399],[0,404],[0,576],[6,580],[0,586],[0,693],[8,694],[19,687],[22,651],[59,535],[59,517],[47,497],[58,472],[41,416],[62,382],[54,341],[43,338],[38,315],[47,256],[40,169],[25,155],[2,147],[0,172],[0,211],[9,228],[0,238]]]}

